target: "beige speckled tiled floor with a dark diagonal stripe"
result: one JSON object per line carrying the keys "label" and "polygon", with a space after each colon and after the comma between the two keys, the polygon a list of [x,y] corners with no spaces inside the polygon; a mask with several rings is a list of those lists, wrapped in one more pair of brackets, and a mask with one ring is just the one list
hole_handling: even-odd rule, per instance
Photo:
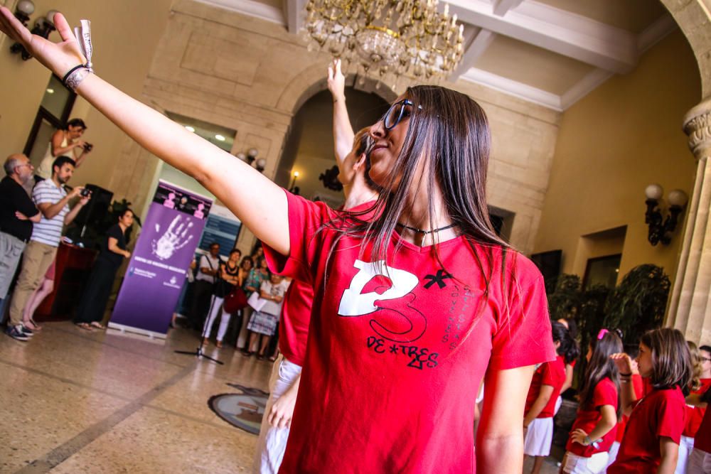
{"label": "beige speckled tiled floor with a dark diagonal stripe", "polygon": [[0,335],[0,473],[249,472],[256,436],[208,399],[236,392],[228,383],[266,390],[270,362],[214,345],[206,354],[225,365],[173,352],[197,345],[182,329],[159,343],[69,322],[28,343]]}

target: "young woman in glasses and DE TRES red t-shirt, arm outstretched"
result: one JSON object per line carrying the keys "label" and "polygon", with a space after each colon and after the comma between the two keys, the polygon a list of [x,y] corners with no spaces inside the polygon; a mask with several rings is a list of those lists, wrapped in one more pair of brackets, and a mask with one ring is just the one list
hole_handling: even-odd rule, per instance
{"label": "young woman in glasses and DE TRES red t-shirt, arm outstretched", "polygon": [[368,174],[383,188],[375,209],[338,212],[90,74],[64,16],[54,24],[58,44],[0,7],[0,31],[205,185],[264,242],[272,269],[313,284],[282,472],[520,472],[526,388],[555,351],[540,271],[489,219],[491,136],[479,104],[410,87],[370,127]]}

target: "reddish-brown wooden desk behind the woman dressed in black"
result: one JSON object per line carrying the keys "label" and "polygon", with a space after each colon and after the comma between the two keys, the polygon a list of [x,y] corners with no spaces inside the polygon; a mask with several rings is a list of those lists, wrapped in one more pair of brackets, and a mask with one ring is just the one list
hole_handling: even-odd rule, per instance
{"label": "reddish-brown wooden desk behind the woman dressed in black", "polygon": [[74,317],[96,255],[95,250],[59,245],[54,289],[35,311],[37,321],[65,321]]}

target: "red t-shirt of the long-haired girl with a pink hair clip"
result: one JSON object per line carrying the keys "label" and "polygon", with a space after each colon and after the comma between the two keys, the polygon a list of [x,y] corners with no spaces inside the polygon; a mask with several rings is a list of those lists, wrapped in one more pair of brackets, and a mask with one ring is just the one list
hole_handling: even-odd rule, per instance
{"label": "red t-shirt of the long-haired girl with a pink hair clip", "polygon": [[[597,423],[602,419],[602,414],[600,413],[600,407],[604,405],[611,405],[615,411],[617,411],[617,387],[615,387],[614,382],[610,379],[602,379],[599,384],[597,384],[592,391],[592,401],[587,406],[581,406],[578,409],[577,417],[573,423],[570,432],[576,429],[582,429],[585,433],[590,433]],[[610,446],[615,441],[616,430],[613,428],[608,431],[605,436],[602,437],[602,441],[598,443],[598,447],[583,446],[580,443],[573,442],[568,438],[568,443],[565,446],[566,451],[570,451],[578,456],[583,456],[589,458],[596,453],[606,453],[609,451]]]}

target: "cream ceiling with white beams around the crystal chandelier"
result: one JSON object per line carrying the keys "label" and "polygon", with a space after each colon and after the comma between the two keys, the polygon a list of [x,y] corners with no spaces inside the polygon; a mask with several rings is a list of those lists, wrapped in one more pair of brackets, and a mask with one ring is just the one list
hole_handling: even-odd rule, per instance
{"label": "cream ceiling with white beams around the crystal chandelier", "polygon": [[[306,0],[199,0],[298,33]],[[450,0],[464,24],[461,79],[563,111],[676,28],[658,0]],[[444,2],[440,1],[440,9]]]}

